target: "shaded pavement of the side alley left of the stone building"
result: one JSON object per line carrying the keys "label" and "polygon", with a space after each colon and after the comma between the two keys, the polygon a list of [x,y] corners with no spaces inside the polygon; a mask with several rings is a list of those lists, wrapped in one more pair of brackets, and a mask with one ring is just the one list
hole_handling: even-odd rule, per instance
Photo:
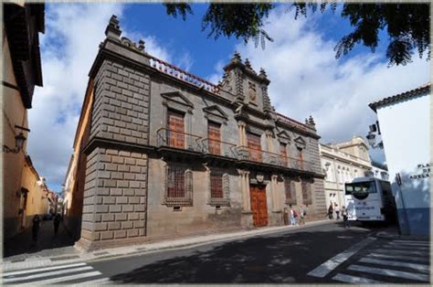
{"label": "shaded pavement of the side alley left of the stone building", "polygon": [[5,260],[10,261],[56,256],[74,252],[74,243],[75,240],[63,223],[60,223],[58,234],[54,236],[53,220],[43,220],[36,245],[33,244],[32,229],[29,228],[12,239],[5,240],[3,256]]}

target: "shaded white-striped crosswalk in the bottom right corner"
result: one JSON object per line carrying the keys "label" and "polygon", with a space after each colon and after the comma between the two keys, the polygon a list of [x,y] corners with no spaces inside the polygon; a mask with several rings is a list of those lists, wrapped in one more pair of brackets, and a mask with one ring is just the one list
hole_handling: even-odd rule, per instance
{"label": "shaded white-striped crosswalk in the bottom right corner", "polygon": [[428,241],[391,240],[363,250],[331,278],[354,284],[430,282],[429,253]]}

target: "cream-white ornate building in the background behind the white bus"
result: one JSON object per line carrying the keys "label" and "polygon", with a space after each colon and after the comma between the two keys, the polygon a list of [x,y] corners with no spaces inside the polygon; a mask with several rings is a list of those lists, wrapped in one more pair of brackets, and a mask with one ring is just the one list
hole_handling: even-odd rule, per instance
{"label": "cream-white ornate building in the background behind the white bus", "polygon": [[344,206],[344,183],[368,175],[372,169],[368,146],[361,136],[344,143],[320,145],[322,170],[326,175],[324,190],[326,205]]}

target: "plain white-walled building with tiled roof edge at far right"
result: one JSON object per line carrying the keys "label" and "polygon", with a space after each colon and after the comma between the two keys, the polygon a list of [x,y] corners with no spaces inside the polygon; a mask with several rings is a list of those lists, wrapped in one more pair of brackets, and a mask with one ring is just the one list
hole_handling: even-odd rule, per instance
{"label": "plain white-walled building with tiled roof edge at far right", "polygon": [[430,234],[430,84],[369,106],[380,125],[400,231]]}

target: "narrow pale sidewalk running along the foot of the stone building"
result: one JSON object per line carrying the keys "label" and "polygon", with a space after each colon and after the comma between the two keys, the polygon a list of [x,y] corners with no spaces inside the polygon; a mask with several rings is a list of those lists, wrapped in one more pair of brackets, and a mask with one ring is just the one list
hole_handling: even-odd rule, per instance
{"label": "narrow pale sidewalk running along the foot of the stone building", "polygon": [[[120,248],[112,248],[105,250],[95,250],[92,252],[79,252],[79,250],[70,250],[70,247],[66,249],[58,249],[60,253],[56,255],[41,255],[35,254],[35,256],[27,257],[26,260],[10,260],[5,259],[3,261],[2,267],[3,271],[15,271],[21,269],[28,268],[37,268],[37,267],[48,267],[58,264],[67,264],[77,261],[94,261],[94,260],[105,260],[108,258],[115,257],[125,257],[132,255],[140,255],[148,252],[158,251],[158,250],[170,250],[170,249],[178,249],[178,248],[190,248],[193,246],[215,243],[215,242],[224,242],[233,239],[247,239],[250,237],[265,235],[270,233],[275,233],[279,231],[287,231],[287,230],[295,230],[295,229],[304,229],[306,227],[312,227],[323,224],[333,224],[335,223],[333,220],[325,219],[318,220],[312,222],[306,222],[305,225],[302,226],[282,226],[282,227],[270,227],[263,229],[252,229],[252,230],[243,230],[233,233],[223,233],[223,234],[211,234],[200,237],[193,238],[185,238],[185,239],[171,239],[164,240],[154,243],[144,243],[141,245],[133,245],[128,247],[120,247]],[[60,255],[60,256],[59,256]]]}

